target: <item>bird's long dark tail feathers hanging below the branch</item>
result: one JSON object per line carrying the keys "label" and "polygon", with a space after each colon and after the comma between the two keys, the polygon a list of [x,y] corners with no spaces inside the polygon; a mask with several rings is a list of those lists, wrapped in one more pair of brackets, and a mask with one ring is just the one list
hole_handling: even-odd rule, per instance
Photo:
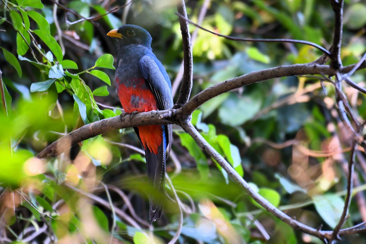
{"label": "bird's long dark tail feathers hanging below the branch", "polygon": [[[163,133],[164,134],[164,133]],[[164,136],[164,135],[163,135]],[[163,137],[164,138],[164,137]],[[149,195],[150,204],[150,225],[160,219],[164,207],[165,188],[165,150],[167,149],[165,138],[158,147],[158,154],[154,154],[149,149],[145,151],[147,176],[155,191]]]}

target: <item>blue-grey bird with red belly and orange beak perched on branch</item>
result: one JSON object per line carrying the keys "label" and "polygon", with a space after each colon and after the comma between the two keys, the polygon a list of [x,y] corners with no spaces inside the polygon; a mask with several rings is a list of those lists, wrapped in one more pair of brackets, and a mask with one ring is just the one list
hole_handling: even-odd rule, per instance
{"label": "blue-grey bird with red belly and orange beak perched on branch", "polygon": [[[131,115],[171,109],[171,81],[152,51],[150,33],[137,25],[122,25],[107,35],[117,45],[115,85],[124,111]],[[165,162],[172,145],[172,125],[145,125],[134,130],[145,149],[147,177],[157,192],[149,194],[151,225],[163,213]]]}

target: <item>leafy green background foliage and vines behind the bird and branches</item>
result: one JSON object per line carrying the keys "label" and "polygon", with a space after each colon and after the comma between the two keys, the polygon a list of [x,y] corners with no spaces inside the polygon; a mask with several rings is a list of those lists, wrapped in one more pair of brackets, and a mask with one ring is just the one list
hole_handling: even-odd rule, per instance
{"label": "leafy green background foliage and vines behind the bird and branches", "polygon": [[[35,157],[83,124],[122,113],[109,30],[122,23],[145,27],[174,80],[183,57],[176,3],[137,0],[100,19],[85,19],[124,3],[0,1],[0,243],[165,243],[175,234],[179,213],[170,198],[150,232],[152,189],[132,128],[85,140],[56,158]],[[195,22],[202,4],[187,1]],[[366,50],[365,3],[348,0],[344,12],[341,58],[348,65]],[[333,22],[328,1],[219,0],[210,3],[202,26],[236,37],[294,38],[329,48]],[[192,95],[251,71],[321,55],[300,44],[234,42],[198,30]],[[365,71],[352,79],[365,86]],[[332,229],[343,209],[348,155],[324,154],[350,145],[337,127],[335,90],[325,83],[325,91],[313,77],[268,80],[211,99],[194,112],[193,123],[269,202],[306,225]],[[365,120],[365,95],[346,85],[344,91]],[[178,243],[321,243],[266,213],[190,136],[173,128],[167,174],[184,203]],[[356,171],[358,193],[344,227],[365,218],[355,199],[365,199],[366,176],[358,165]],[[365,242],[365,235],[342,238]]]}

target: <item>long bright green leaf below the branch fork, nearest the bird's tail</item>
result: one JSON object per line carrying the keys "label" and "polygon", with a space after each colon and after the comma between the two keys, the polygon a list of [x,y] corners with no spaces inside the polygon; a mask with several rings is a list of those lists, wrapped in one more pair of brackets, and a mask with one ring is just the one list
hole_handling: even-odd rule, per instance
{"label": "long bright green leaf below the branch fork, nearest the bird's tail", "polygon": [[195,140],[188,134],[179,134],[179,138],[183,146],[188,149],[189,154],[195,159],[197,169],[202,177],[206,178],[209,173],[207,159],[203,154],[201,147],[197,145]]}

